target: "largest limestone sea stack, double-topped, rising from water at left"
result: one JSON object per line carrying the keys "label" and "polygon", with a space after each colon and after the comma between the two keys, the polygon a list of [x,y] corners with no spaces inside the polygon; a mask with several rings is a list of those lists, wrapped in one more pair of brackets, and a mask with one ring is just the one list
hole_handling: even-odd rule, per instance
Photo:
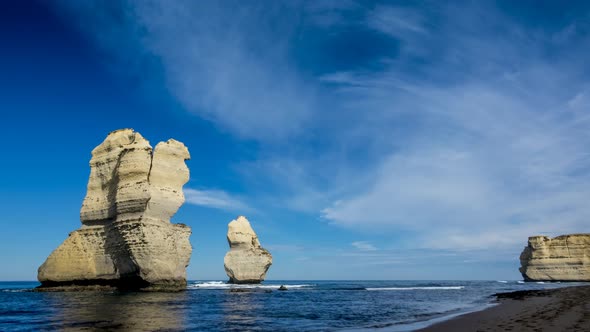
{"label": "largest limestone sea stack, double-topped, rising from water at left", "polygon": [[132,129],[110,133],[92,151],[82,227],[39,267],[40,289],[184,289],[191,229],[170,218],[184,203],[189,158],[173,139],[152,151]]}

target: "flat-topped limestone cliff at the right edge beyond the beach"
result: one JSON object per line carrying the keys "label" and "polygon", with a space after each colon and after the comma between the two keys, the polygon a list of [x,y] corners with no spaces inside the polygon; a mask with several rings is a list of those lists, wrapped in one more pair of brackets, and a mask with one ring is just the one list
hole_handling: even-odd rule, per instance
{"label": "flat-topped limestone cliff at the right edge beyond the beach", "polygon": [[590,234],[531,236],[520,265],[527,281],[590,281]]}

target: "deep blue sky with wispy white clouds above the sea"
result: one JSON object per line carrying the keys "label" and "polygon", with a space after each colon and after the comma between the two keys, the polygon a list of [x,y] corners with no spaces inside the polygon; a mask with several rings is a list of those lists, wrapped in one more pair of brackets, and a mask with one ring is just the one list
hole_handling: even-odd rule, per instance
{"label": "deep blue sky with wispy white clouds above the sea", "polygon": [[33,280],[112,130],[192,155],[191,279],[518,279],[590,229],[590,4],[0,2],[0,279]]}

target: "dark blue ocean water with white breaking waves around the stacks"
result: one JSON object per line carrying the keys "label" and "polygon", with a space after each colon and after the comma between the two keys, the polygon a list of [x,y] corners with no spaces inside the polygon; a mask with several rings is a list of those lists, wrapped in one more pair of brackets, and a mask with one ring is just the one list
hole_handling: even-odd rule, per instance
{"label": "dark blue ocean water with white breaking waves around the stacks", "polygon": [[178,293],[31,292],[37,285],[0,282],[1,331],[411,331],[486,308],[494,293],[577,284],[190,281]]}

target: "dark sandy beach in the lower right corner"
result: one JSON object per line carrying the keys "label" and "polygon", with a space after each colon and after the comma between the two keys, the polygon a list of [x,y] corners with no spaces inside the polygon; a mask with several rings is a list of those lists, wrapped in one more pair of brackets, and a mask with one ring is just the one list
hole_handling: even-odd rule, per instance
{"label": "dark sandy beach in the lower right corner", "polygon": [[495,307],[419,331],[590,331],[590,286],[497,294]]}

